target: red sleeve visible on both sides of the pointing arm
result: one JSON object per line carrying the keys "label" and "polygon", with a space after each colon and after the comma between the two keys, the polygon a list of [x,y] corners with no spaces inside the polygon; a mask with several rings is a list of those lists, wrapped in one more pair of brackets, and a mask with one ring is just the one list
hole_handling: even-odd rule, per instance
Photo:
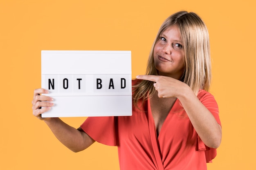
{"label": "red sleeve visible on both sides of the pointing arm", "polygon": [[[214,99],[213,95],[211,95],[209,92],[206,92],[206,91],[200,91],[198,93],[198,99],[211,112],[211,114],[216,119],[217,123],[220,124],[221,126],[218,104]],[[212,159],[214,159],[217,155],[217,150],[215,148],[209,148],[208,146],[206,146],[199,136],[197,140],[197,150],[205,152],[207,163],[212,162]]]}

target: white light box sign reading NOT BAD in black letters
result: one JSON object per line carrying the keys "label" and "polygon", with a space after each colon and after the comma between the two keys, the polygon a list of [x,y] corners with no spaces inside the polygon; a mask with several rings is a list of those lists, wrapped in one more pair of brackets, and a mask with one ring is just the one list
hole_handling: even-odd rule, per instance
{"label": "white light box sign reading NOT BAD in black letters", "polygon": [[41,71],[54,98],[42,117],[132,115],[130,51],[41,51]]}

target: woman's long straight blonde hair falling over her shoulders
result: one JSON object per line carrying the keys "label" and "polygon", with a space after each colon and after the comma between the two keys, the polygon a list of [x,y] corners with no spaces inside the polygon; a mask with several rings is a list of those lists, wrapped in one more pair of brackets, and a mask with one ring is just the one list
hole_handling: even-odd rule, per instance
{"label": "woman's long straight blonde hair falling over her shoulders", "polygon": [[[171,26],[180,30],[184,49],[184,71],[180,81],[186,83],[195,95],[200,89],[209,91],[211,84],[211,57],[209,33],[202,19],[193,12],[180,11],[169,16],[160,27],[150,50],[146,75],[158,75],[155,68],[153,52],[160,35]],[[140,99],[144,102],[155,93],[154,82],[138,81],[133,86],[133,104],[137,106]]]}

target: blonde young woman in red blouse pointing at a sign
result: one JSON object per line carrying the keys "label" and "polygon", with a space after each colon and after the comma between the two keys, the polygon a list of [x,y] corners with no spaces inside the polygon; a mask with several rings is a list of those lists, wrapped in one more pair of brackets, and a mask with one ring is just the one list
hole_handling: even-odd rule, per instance
{"label": "blonde young woman in red blouse pointing at a sign", "polygon": [[[74,152],[98,141],[117,146],[121,170],[206,170],[216,156],[222,130],[209,92],[209,35],[195,13],[167,18],[153,43],[146,75],[132,80],[132,116],[88,117],[75,129],[40,115],[53,99],[34,91],[33,114]],[[41,108],[43,107],[43,108]]]}

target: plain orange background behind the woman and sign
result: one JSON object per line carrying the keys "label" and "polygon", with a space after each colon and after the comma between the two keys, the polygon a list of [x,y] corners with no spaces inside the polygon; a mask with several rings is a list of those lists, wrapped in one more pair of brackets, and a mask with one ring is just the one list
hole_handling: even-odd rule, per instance
{"label": "plain orange background behind the woman and sign", "polygon": [[[118,170],[117,148],[95,143],[73,153],[32,115],[40,88],[41,50],[130,50],[132,77],[144,74],[160,24],[176,11],[198,13],[208,26],[211,93],[223,138],[209,170],[256,167],[255,4],[253,0],[1,0],[0,169]],[[84,117],[65,118],[79,127]]]}

